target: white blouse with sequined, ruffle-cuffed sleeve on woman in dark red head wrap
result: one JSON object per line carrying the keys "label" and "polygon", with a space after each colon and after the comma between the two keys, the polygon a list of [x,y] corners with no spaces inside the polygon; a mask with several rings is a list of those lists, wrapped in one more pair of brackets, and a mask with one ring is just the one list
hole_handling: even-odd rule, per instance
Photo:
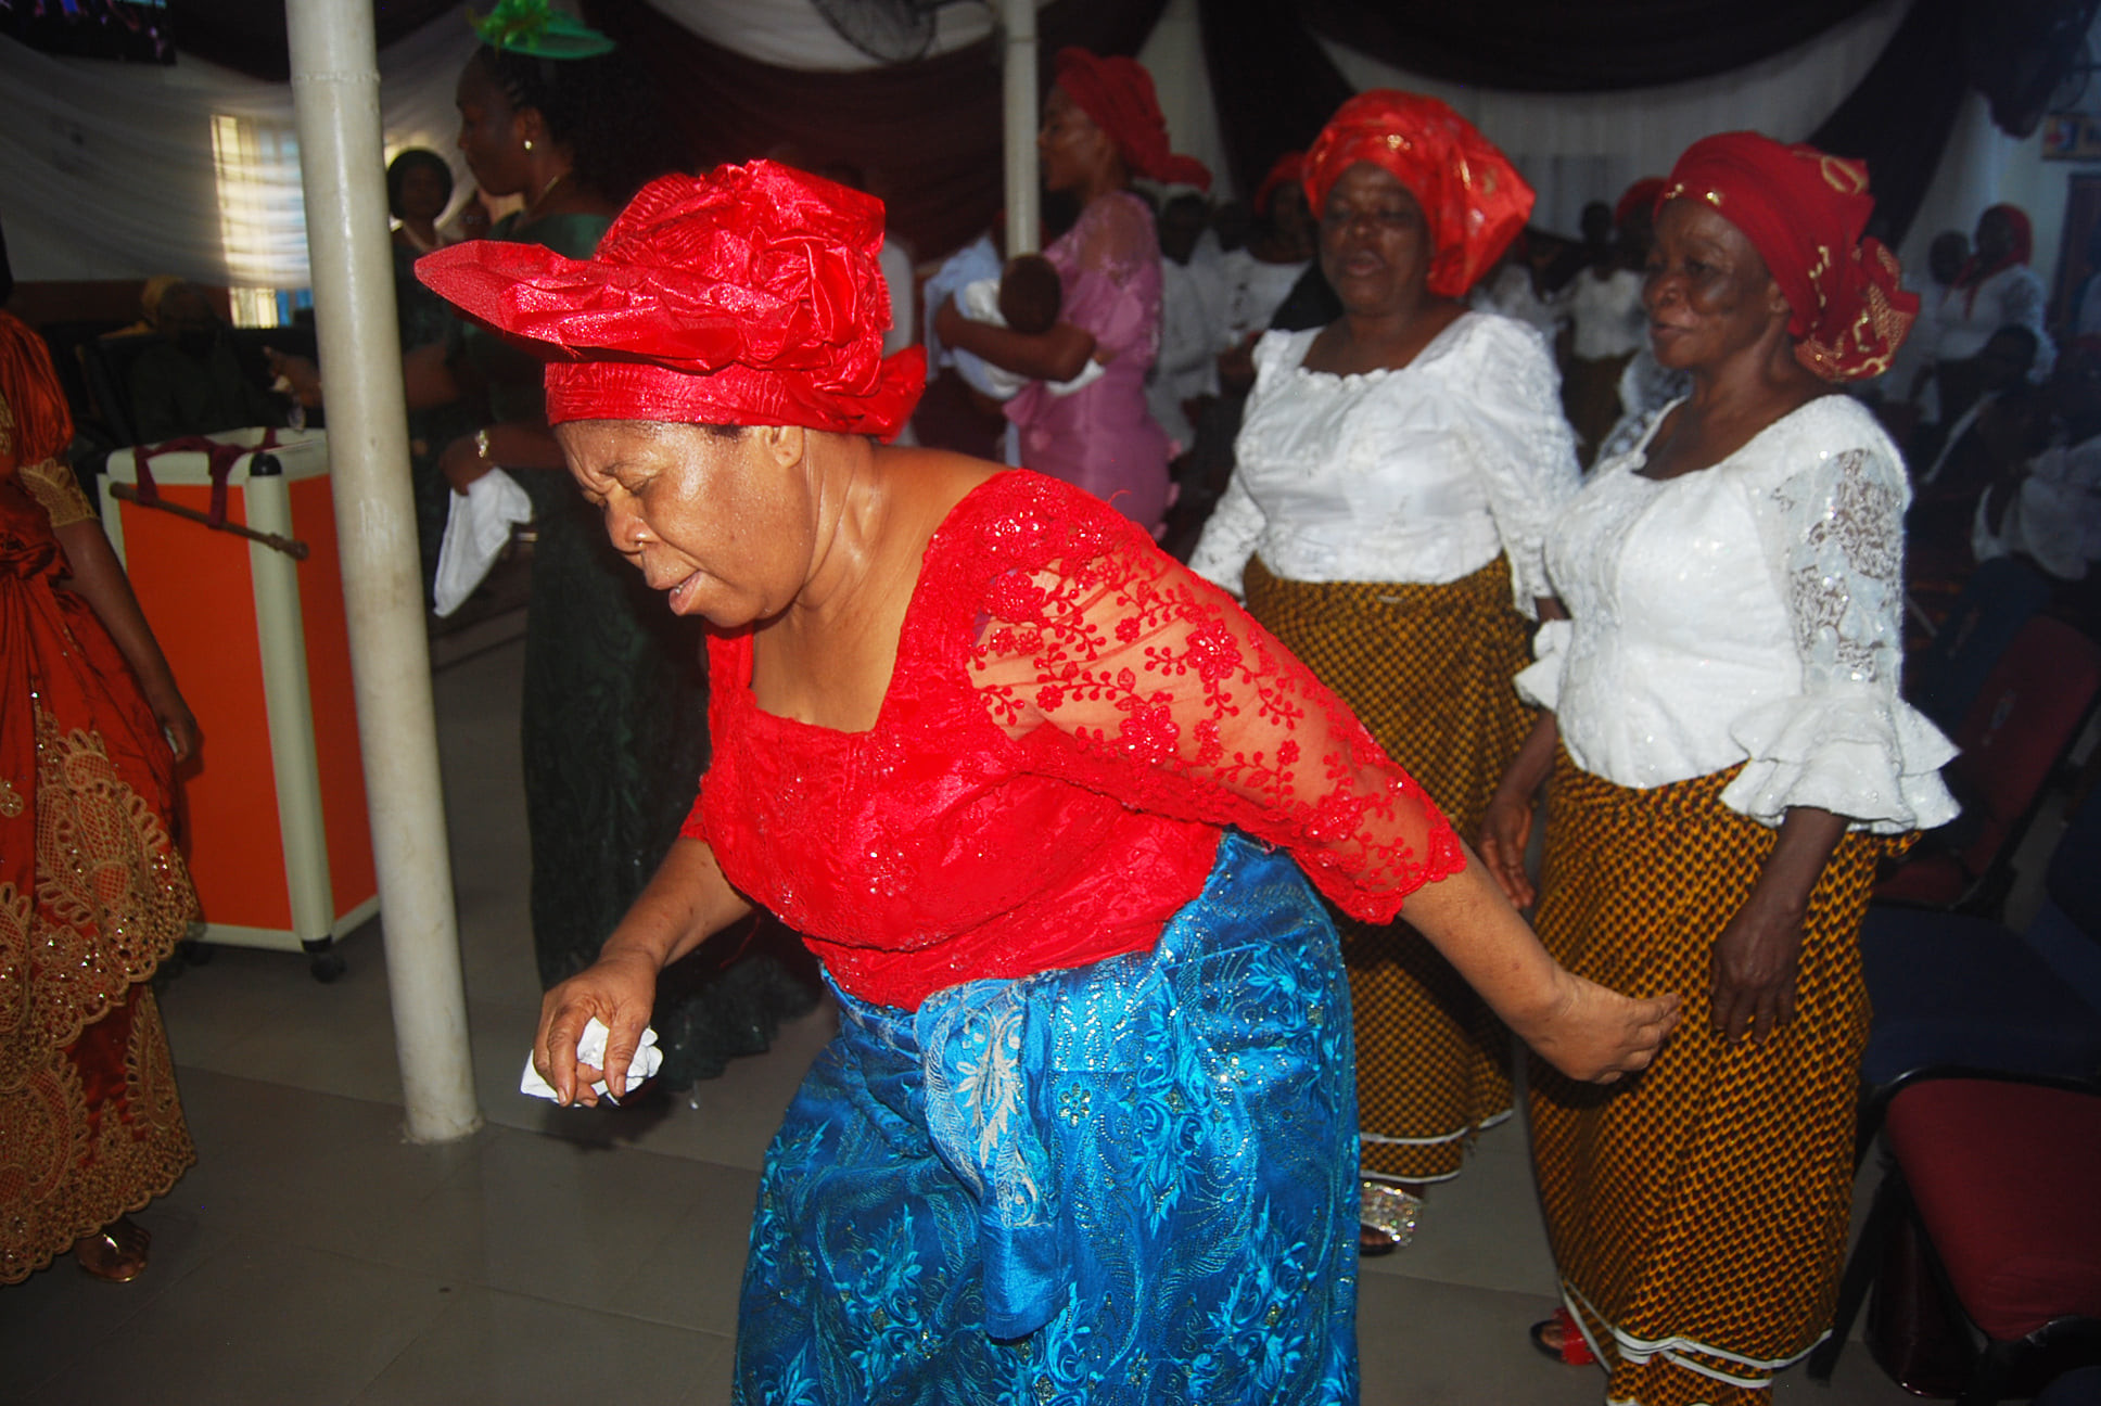
{"label": "white blouse with sequined, ruffle-cuffed sleeve on woman in dark red head wrap", "polygon": [[1723,805],[1769,826],[1794,805],[1876,834],[1952,820],[1954,748],[1897,698],[1910,485],[1874,416],[1826,395],[1664,481],[1637,473],[1651,435],[1548,532],[1572,620],[1540,630],[1517,691],[1618,786],[1742,761]]}

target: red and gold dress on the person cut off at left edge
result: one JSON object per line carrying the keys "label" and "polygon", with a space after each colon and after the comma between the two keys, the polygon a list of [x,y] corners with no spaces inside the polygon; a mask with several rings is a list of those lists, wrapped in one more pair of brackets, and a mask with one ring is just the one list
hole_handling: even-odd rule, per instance
{"label": "red and gold dress on the person cut off at left edge", "polygon": [[42,340],[0,313],[0,1284],[195,1160],[147,977],[195,914],[174,761],[124,656],[65,591],[92,517]]}

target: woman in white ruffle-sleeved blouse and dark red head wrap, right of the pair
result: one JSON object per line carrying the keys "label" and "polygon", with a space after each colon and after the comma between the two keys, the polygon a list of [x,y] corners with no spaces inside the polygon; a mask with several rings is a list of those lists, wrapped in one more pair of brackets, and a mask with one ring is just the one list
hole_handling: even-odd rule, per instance
{"label": "woman in white ruffle-sleeved blouse and dark red head wrap, right of the pair", "polygon": [[1950,746],[1897,696],[1904,462],[1836,393],[1916,307],[1861,237],[1872,208],[1866,168],[1811,147],[1731,132],[1679,158],[1643,298],[1691,393],[1546,538],[1572,624],[1519,677],[1548,712],[1483,826],[1527,902],[1546,780],[1542,939],[1593,979],[1687,992],[1639,1080],[1532,1089],[1565,1301],[1534,1337],[1588,1345],[1611,1402],[1761,1402],[1830,1322],[1855,937],[1876,860],[1954,813]]}

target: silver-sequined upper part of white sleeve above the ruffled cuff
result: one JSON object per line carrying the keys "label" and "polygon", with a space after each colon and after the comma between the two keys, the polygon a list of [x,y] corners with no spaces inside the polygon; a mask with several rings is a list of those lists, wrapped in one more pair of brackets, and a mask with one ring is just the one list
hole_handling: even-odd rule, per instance
{"label": "silver-sequined upper part of white sleeve above the ruffled cuff", "polygon": [[1868,450],[1845,450],[1773,490],[1794,542],[1786,599],[1809,694],[1895,679],[1904,658],[1904,494],[1874,469]]}

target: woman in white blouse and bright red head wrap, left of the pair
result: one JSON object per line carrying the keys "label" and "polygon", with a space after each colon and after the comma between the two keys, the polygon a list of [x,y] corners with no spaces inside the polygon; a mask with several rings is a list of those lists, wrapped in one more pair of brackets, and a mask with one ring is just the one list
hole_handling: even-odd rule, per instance
{"label": "woman in white blouse and bright red head wrap, left of the pair", "polygon": [[[1307,198],[1345,315],[1258,343],[1233,481],[1189,565],[1471,834],[1530,727],[1500,670],[1525,658],[1540,534],[1576,492],[1544,343],[1460,303],[1532,191],[1443,103],[1364,92],[1307,153]],[[1406,925],[1343,923],[1343,950],[1380,1253],[1412,1217],[1393,1192],[1456,1175],[1509,1112],[1509,1036]]]}

